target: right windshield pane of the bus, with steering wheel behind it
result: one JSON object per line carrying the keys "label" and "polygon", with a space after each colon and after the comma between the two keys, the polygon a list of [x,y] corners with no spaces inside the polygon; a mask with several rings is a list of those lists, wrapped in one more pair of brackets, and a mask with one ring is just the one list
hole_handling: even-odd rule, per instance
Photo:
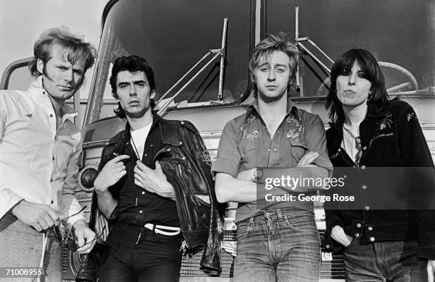
{"label": "right windshield pane of the bus, with steering wheel behind it", "polygon": [[[295,8],[299,7],[299,38],[313,40],[332,60],[350,48],[370,50],[382,63],[387,92],[434,94],[435,1],[432,0],[275,0],[266,4],[267,33],[284,31],[296,37]],[[307,41],[306,48],[324,59]],[[301,48],[300,48],[301,49]],[[328,93],[329,73],[302,52],[299,97]]]}

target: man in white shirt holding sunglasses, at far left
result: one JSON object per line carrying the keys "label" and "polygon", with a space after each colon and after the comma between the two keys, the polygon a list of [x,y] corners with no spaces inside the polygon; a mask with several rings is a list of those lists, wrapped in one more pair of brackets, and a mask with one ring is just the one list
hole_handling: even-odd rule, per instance
{"label": "man in white shirt holding sunglasses, at far left", "polygon": [[[1,273],[6,281],[41,273],[60,281],[62,245],[85,253],[95,242],[74,195],[81,134],[65,100],[79,90],[96,51],[65,28],[42,33],[33,51],[29,68],[36,79],[28,90],[0,91],[0,267],[9,269]],[[75,239],[62,238],[60,223],[72,227]]]}

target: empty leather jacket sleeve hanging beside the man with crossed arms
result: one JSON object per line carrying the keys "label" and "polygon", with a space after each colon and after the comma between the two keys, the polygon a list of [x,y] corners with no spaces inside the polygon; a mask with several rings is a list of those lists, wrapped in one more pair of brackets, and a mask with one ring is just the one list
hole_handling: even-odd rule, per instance
{"label": "empty leather jacket sleeve hanging beside the man with crossed arms", "polygon": [[[195,166],[198,166],[200,175],[193,177],[203,178],[204,183],[208,185],[208,196],[210,198],[210,225],[208,227],[208,239],[205,246],[203,257],[200,261],[200,266],[203,271],[210,275],[218,275],[222,271],[220,266],[220,243],[222,242],[222,217],[218,208],[218,200],[215,194],[215,182],[211,173],[211,158],[205,147],[205,143],[201,138],[198,130],[188,121],[183,121],[183,126],[193,135],[193,141],[186,141],[189,152],[195,160]],[[186,133],[186,131],[185,131]]]}

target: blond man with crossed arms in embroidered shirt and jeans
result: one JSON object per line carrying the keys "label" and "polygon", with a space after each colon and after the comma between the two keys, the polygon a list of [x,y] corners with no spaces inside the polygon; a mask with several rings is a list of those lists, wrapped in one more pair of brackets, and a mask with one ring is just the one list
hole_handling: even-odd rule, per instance
{"label": "blond man with crossed arms in embroidered shirt and jeans", "polygon": [[225,125],[213,164],[218,201],[239,204],[235,281],[318,281],[320,243],[313,202],[268,202],[272,196],[263,194],[315,190],[267,190],[264,180],[270,175],[326,177],[332,169],[323,122],[289,99],[298,53],[284,33],[257,44],[249,61],[256,99],[246,114]]}

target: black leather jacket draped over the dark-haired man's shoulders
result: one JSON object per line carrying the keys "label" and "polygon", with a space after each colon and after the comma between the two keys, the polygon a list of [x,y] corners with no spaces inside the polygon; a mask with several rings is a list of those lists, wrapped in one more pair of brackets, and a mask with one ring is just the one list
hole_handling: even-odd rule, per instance
{"label": "black leather jacket draped over the dark-haired man's shoulders", "polygon": [[[157,114],[153,114],[153,118],[158,119],[163,143],[154,161],[159,161],[163,173],[174,188],[183,237],[189,249],[205,245],[200,266],[203,271],[218,275],[222,270],[220,242],[223,233],[210,170],[210,155],[198,130],[189,121],[162,119]],[[129,141],[126,131],[129,131],[128,123],[124,131],[104,146],[99,170],[107,161],[122,154]],[[197,195],[208,197],[210,204]],[[92,206],[97,207],[94,202]],[[94,221],[91,215],[91,222]]]}

